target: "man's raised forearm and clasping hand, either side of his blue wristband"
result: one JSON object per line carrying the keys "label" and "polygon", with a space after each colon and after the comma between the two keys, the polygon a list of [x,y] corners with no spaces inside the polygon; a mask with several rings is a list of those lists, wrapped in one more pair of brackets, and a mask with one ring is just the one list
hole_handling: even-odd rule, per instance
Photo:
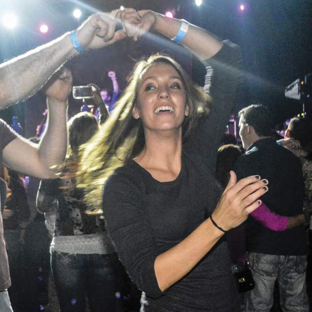
{"label": "man's raised forearm and clasping hand, either side of his blue wristband", "polygon": [[[117,11],[90,16],[77,29],[84,49],[96,49],[125,38],[122,30],[115,32]],[[67,32],[54,41],[0,64],[0,109],[22,101],[38,91],[69,58],[77,55]]]}

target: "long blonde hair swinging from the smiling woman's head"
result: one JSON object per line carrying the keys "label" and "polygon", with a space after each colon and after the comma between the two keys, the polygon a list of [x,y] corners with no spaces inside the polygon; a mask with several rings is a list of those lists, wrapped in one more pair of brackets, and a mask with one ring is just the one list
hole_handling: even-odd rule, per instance
{"label": "long blonde hair swinging from the smiling woman's head", "polygon": [[[137,103],[137,91],[144,72],[157,62],[165,62],[179,73],[186,92],[188,117],[184,119],[183,140],[195,127],[198,119],[210,112],[210,97],[202,87],[194,84],[181,65],[164,54],[155,54],[147,60],[137,62],[129,77],[128,85],[120,100],[101,125],[100,131],[82,146],[78,184],[85,190],[85,201],[89,207],[101,207],[102,193],[107,179],[115,170],[136,157],[145,146],[141,120],[132,117],[132,109]],[[95,211],[94,213],[102,211]],[[90,211],[92,213],[92,211]]]}

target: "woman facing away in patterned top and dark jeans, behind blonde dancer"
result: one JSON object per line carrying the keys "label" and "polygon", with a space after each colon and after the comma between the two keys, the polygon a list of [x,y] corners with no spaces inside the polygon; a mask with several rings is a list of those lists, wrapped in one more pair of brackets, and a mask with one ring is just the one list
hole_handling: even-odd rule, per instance
{"label": "woman facing away in patterned top and dark jeans, behind blonde dancer", "polygon": [[101,215],[83,203],[83,191],[73,178],[80,161],[79,148],[99,130],[94,115],[81,112],[68,122],[69,149],[62,177],[42,180],[37,208],[56,214],[51,243],[51,267],[61,312],[84,312],[85,296],[91,312],[117,311],[123,268],[108,238]]}

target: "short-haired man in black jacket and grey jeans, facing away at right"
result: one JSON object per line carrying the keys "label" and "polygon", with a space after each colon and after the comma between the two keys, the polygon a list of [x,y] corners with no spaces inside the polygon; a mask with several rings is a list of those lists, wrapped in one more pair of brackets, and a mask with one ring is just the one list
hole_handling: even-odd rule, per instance
{"label": "short-haired man in black jacket and grey jeans, facing away at right", "polygon": [[[245,155],[235,164],[238,179],[259,174],[269,181],[261,200],[273,212],[292,217],[303,212],[304,183],[300,160],[272,138],[272,117],[262,105],[240,112],[239,135]],[[307,242],[303,225],[272,231],[247,220],[247,251],[255,287],[247,294],[246,312],[268,311],[276,280],[284,312],[308,312],[306,291]]]}

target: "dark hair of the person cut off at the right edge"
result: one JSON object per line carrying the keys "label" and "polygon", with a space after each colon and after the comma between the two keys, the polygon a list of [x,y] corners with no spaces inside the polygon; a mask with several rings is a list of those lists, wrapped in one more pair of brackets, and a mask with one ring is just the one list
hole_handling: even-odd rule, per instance
{"label": "dark hair of the person cut off at the right edge", "polygon": [[288,129],[290,137],[298,140],[302,147],[307,146],[312,140],[312,123],[308,118],[291,118]]}

